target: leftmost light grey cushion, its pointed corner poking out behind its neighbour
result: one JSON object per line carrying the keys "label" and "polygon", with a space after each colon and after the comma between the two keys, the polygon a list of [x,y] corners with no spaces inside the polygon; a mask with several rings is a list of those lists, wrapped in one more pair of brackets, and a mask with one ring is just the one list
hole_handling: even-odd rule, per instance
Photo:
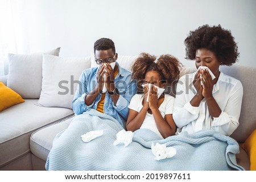
{"label": "leftmost light grey cushion, its pointed corner poking out behind its neighbour", "polygon": [[[59,56],[60,48],[46,52]],[[9,74],[7,87],[23,99],[38,99],[42,88],[43,53],[8,54]]]}

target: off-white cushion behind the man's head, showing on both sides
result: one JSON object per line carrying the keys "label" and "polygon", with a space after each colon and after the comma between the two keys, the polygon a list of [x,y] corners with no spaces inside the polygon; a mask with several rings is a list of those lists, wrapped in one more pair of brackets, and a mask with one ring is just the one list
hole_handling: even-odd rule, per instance
{"label": "off-white cushion behind the man's head, showing on both sides", "polygon": [[[138,56],[118,56],[117,62],[120,66],[127,70],[131,70],[131,66],[133,66],[134,61],[136,60]],[[97,67],[94,54],[91,54],[91,67]]]}

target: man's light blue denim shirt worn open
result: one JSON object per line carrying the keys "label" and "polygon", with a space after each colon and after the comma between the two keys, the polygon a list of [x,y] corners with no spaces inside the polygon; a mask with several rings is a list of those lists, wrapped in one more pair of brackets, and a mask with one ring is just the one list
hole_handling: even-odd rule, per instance
{"label": "man's light blue denim shirt worn open", "polygon": [[[115,88],[119,91],[119,98],[117,104],[114,105],[111,96],[106,92],[104,101],[104,113],[106,115],[114,117],[123,127],[127,120],[131,98],[137,92],[137,84],[131,80],[131,71],[123,69],[117,62],[118,74],[114,79]],[[90,109],[97,109],[98,102],[101,100],[101,94],[93,101],[92,104],[87,105],[85,103],[85,97],[97,85],[97,71],[98,67],[92,67],[82,72],[79,78],[79,86],[77,86],[75,97],[72,101],[73,111],[76,115],[80,115],[83,112]]]}

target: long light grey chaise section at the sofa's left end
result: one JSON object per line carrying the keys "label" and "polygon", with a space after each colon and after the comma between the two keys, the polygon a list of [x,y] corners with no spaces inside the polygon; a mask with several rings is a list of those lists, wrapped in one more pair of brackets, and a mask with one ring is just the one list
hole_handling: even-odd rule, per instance
{"label": "long light grey chaise section at the sofa's left end", "polygon": [[31,133],[73,115],[72,109],[39,107],[38,99],[25,99],[0,114],[0,167],[30,151]]}

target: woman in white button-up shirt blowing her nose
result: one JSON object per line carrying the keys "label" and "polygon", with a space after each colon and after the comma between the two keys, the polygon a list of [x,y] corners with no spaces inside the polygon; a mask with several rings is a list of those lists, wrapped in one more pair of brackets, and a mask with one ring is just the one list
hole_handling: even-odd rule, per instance
{"label": "woman in white button-up shirt blowing her nose", "polygon": [[197,71],[184,75],[179,80],[183,84],[177,84],[173,114],[177,133],[213,129],[230,136],[239,125],[243,88],[219,67],[237,61],[234,37],[220,25],[204,25],[191,31],[184,43]]}

